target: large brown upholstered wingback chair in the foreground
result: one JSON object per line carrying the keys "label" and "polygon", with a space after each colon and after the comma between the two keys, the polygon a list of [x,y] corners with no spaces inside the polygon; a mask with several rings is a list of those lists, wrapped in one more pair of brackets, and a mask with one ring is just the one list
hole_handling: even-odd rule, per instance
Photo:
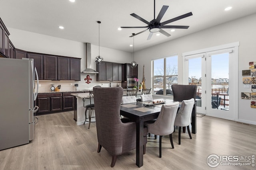
{"label": "large brown upholstered wingback chair in the foreground", "polygon": [[[98,150],[102,147],[112,155],[111,167],[116,158],[136,149],[136,123],[120,119],[122,87],[93,88],[98,137]],[[144,153],[146,151],[148,129],[144,127]]]}

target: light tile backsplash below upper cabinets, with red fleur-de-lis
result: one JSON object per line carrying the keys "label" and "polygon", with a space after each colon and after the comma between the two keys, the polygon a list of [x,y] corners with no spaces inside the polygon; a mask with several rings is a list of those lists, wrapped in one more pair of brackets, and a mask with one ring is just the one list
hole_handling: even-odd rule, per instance
{"label": "light tile backsplash below upper cabinets, with red fleur-de-lis", "polygon": [[[61,85],[60,92],[72,92],[76,90],[91,90],[94,86],[102,86],[109,87],[116,86],[116,84],[120,84],[121,82],[99,82],[96,81],[96,74],[89,74],[90,78],[92,78],[91,83],[87,84],[84,78],[86,78],[88,74],[81,74],[81,81],[39,81],[38,92],[50,92],[51,86],[54,84],[54,87],[57,87],[59,84]],[[78,84],[76,89],[75,84]]]}

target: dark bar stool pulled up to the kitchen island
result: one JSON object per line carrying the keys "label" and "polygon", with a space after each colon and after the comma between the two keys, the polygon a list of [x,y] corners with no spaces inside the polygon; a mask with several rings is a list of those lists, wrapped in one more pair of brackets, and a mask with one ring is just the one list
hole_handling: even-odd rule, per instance
{"label": "dark bar stool pulled up to the kitchen island", "polygon": [[[95,87],[101,87],[101,86],[95,86]],[[86,101],[86,98],[83,98],[83,101],[84,101],[84,107],[85,107],[85,111],[84,111],[84,114],[85,114],[85,120],[84,120],[84,123],[87,121],[89,122],[89,125],[88,125],[88,129],[90,129],[90,125],[91,125],[91,122],[95,122],[95,121],[91,121],[92,118],[92,111],[95,109],[94,107],[94,103],[92,103],[92,98],[93,98],[93,92],[90,91],[89,92],[89,99],[90,99],[90,104],[86,105],[85,106],[85,101]],[[89,110],[89,113],[88,113],[88,117],[87,117],[87,110]]]}

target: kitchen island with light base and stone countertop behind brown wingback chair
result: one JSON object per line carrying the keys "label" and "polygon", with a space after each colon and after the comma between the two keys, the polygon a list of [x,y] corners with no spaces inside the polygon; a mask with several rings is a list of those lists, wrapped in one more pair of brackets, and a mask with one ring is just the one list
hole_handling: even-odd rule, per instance
{"label": "kitchen island with light base and stone countertop behind brown wingback chair", "polygon": [[[76,121],[76,125],[84,124],[85,120],[85,107],[86,105],[90,104],[90,90],[84,91],[84,93],[72,93],[70,94],[75,96],[75,103],[74,103],[74,120]],[[85,101],[83,101],[85,99]],[[92,98],[93,102],[93,98]],[[95,116],[95,113],[92,113],[92,116]],[[93,120],[92,120],[93,121]],[[85,122],[88,123],[88,122]]]}

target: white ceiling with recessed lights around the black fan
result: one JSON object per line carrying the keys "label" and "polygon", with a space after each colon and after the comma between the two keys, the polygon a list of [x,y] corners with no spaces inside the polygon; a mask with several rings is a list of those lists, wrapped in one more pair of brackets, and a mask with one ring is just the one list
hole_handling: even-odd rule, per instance
{"label": "white ceiling with recessed lights around the black fan", "polygon": [[[190,33],[235,20],[256,12],[256,0],[156,0],[156,16],[162,6],[169,6],[162,21],[192,12],[193,16],[167,25],[189,25],[188,29],[164,29],[171,34],[166,37],[156,33],[147,40],[149,31],[134,37],[134,50],[138,51],[159,43],[170,41]],[[232,6],[230,11],[224,8]],[[100,46],[132,52],[132,33],[145,28],[120,26],[147,26],[130,16],[135,13],[147,21],[154,18],[154,0],[0,0],[0,17],[6,27],[50,35],[79,42],[98,45],[98,23],[100,24]],[[252,21],[255,22],[255,21]],[[63,30],[58,28],[64,26]],[[250,25],[245,25],[246,27]],[[230,28],[232,29],[232,28]]]}

